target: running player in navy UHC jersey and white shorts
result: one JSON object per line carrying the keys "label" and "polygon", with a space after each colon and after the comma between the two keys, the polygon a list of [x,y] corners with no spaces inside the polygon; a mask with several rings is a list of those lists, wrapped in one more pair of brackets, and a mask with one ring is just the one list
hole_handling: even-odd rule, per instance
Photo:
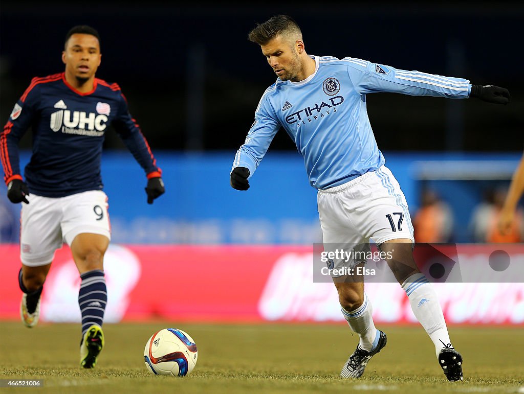
{"label": "running player in navy UHC jersey and white shorts", "polygon": [[[33,78],[0,133],[7,196],[15,204],[25,203],[20,213],[21,319],[27,327],[38,322],[54,252],[67,243],[81,277],[83,368],[95,366],[104,346],[103,258],[111,229],[100,165],[110,123],[144,168],[148,204],[164,193],[161,170],[121,89],[95,77],[101,58],[99,33],[89,26],[73,27],[62,52],[65,72]],[[17,145],[29,126],[33,145],[24,181]]]}

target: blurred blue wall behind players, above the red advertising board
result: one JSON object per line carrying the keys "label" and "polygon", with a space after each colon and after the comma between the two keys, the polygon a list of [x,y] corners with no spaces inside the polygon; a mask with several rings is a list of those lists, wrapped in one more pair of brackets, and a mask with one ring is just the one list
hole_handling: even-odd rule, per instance
{"label": "blurred blue wall behind players, above the red advertising board", "polygon": [[[30,152],[22,152],[25,165]],[[411,215],[419,207],[422,183],[452,208],[454,241],[468,242],[467,223],[482,200],[483,187],[509,183],[520,158],[515,154],[384,152]],[[146,203],[146,177],[126,151],[103,155],[102,178],[109,197],[113,242],[134,244],[309,244],[321,242],[316,190],[309,185],[298,153],[268,152],[247,192],[231,188],[234,152],[156,153],[166,194]],[[473,176],[461,175],[467,163]],[[482,164],[484,167],[482,167]],[[494,164],[498,163],[498,167]],[[479,168],[485,168],[479,173]],[[495,168],[499,176],[489,175]],[[455,173],[462,171],[459,175]],[[484,179],[484,173],[487,175]],[[449,176],[447,176],[448,174]],[[450,175],[451,174],[451,175]],[[461,178],[462,176],[462,178]],[[471,178],[468,178],[468,176]],[[0,185],[2,242],[18,240],[18,210]]]}

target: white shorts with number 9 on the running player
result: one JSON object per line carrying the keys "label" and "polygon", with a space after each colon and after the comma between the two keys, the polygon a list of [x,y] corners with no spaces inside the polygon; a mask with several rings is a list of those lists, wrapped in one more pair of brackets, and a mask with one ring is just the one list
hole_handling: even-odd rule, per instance
{"label": "white shorts with number 9 on the running player", "polygon": [[71,245],[81,233],[111,239],[107,196],[90,190],[66,197],[27,196],[20,212],[20,260],[36,267],[49,264],[65,242]]}

